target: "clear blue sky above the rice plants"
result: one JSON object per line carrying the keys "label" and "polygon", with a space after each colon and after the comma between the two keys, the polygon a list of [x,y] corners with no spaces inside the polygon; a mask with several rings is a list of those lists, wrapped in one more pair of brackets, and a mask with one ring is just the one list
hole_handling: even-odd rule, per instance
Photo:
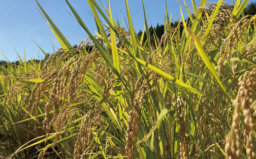
{"label": "clear blue sky above the rice plants", "polygon": [[[107,7],[107,0],[102,1]],[[176,0],[166,1],[169,16],[172,14],[172,19],[178,20],[180,13],[179,3]],[[218,0],[208,1],[217,2]],[[87,33],[69,15],[68,11],[70,10],[65,0],[38,0],[38,2],[69,40],[71,45],[78,44],[79,39],[83,40],[88,37]],[[91,28],[92,32],[96,30],[95,21],[90,14],[91,9],[87,0],[69,0],[69,2],[80,17],[82,17],[87,27]],[[186,0],[186,2],[189,8],[192,9],[191,0]],[[195,2],[198,5],[200,0],[195,0]],[[227,0],[227,2],[232,5],[232,0]],[[110,0],[110,4],[112,14],[116,15],[118,20],[122,23],[126,17],[125,0]],[[141,0],[128,0],[128,4],[135,32],[139,32],[143,30],[144,26],[142,2]],[[149,25],[151,22],[152,25],[156,27],[158,23],[164,23],[164,0],[144,0],[144,5]],[[183,13],[186,12],[185,8],[182,7],[182,9]],[[187,16],[187,14],[185,15]],[[40,14],[35,0],[1,0],[0,52],[2,52],[10,62],[19,60],[16,51],[22,59],[24,59],[25,51],[27,60],[31,58],[43,59],[43,53],[33,40],[36,41],[46,53],[52,54],[54,50],[60,47],[60,44]],[[5,60],[1,54],[0,60]]]}

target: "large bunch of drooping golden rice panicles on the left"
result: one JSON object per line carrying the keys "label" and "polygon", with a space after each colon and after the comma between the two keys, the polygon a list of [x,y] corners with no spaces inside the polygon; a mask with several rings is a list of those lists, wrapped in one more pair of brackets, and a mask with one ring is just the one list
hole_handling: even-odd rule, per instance
{"label": "large bunch of drooping golden rice panicles on the left", "polygon": [[[87,66],[90,62],[95,61],[98,57],[98,52],[95,50],[87,56],[78,55],[76,58],[69,58],[69,52],[64,52],[62,48],[58,49],[44,64],[39,78],[51,83],[36,83],[29,100],[29,111],[35,106],[35,113],[38,115],[38,105],[43,99],[45,104],[45,118],[42,122],[43,129],[47,131],[47,137],[50,134],[50,129],[56,128],[59,132],[67,124],[66,116],[73,113],[66,111],[66,108],[77,98],[77,88],[82,84],[83,77],[86,73]],[[63,63],[63,61],[66,61]],[[73,67],[74,66],[74,67]],[[50,90],[50,91],[45,91]],[[49,100],[45,102],[45,97],[49,96]],[[66,102],[68,100],[68,102]],[[59,109],[61,113],[59,113]],[[51,110],[54,110],[53,118],[50,117]],[[57,142],[58,134],[55,142]],[[46,137],[46,142],[47,142]]]}

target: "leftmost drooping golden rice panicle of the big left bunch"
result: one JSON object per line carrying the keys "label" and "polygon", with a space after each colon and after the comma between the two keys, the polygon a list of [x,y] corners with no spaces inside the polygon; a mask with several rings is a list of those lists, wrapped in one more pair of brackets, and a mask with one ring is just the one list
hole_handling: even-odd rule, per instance
{"label": "leftmost drooping golden rice panicle of the big left bunch", "polygon": [[[36,116],[38,115],[38,105],[40,103],[40,99],[41,96],[43,96],[43,103],[45,103],[45,98],[44,95],[49,94],[50,98],[49,101],[45,104],[45,118],[42,122],[43,125],[43,129],[45,129],[47,131],[47,135],[46,135],[46,140],[45,142],[47,142],[47,137],[50,135],[50,129],[51,129],[51,119],[49,117],[50,115],[50,111],[52,106],[54,105],[54,114],[55,116],[58,114],[58,104],[57,104],[57,89],[58,89],[58,84],[60,83],[60,79],[58,77],[60,77],[60,72],[58,70],[58,67],[60,66],[61,62],[66,58],[66,54],[64,52],[64,50],[62,48],[58,49],[52,56],[49,57],[49,59],[47,59],[47,61],[45,62],[42,71],[39,75],[40,79],[43,79],[45,81],[53,81],[54,85],[53,86],[49,86],[46,83],[36,83],[32,93],[30,95],[30,100],[29,100],[29,112],[32,111],[32,108],[35,107],[35,114]],[[57,61],[58,59],[58,61]],[[54,65],[57,63],[57,66],[54,67]],[[51,93],[45,93],[45,90],[51,89],[52,88],[52,92]],[[49,92],[49,91],[47,91]],[[34,102],[35,101],[35,102]],[[57,134],[58,136],[58,134]],[[46,152],[47,149],[44,149],[43,151],[40,152],[39,154],[39,159],[44,157],[44,154]]]}

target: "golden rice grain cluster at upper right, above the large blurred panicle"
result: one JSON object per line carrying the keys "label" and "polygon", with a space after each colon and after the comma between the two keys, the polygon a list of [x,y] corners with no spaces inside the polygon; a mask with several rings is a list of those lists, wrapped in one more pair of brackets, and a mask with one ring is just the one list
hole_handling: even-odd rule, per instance
{"label": "golden rice grain cluster at upper right, above the large blurred panicle", "polygon": [[[206,3],[206,6],[199,7],[197,12],[211,15],[212,12],[214,12],[216,5],[216,3]],[[256,18],[250,18],[248,15],[238,19],[232,15],[232,10],[233,8],[231,6],[227,5],[226,2],[222,2],[222,5],[215,17],[214,23],[210,29],[210,33],[208,34],[209,37],[204,43],[204,48],[207,52],[213,51],[216,49],[216,47],[218,47],[217,49],[220,50],[218,61],[219,78],[221,78],[222,75],[224,61],[230,62],[230,58],[232,56],[231,53],[236,50],[239,44],[242,46],[242,52],[237,53],[239,56],[241,54],[243,57],[254,58],[252,55],[255,55],[252,54],[252,52],[255,53],[255,49],[251,49],[251,45],[244,45],[247,44],[247,37],[244,35],[248,27],[256,24]],[[201,18],[202,21],[207,22],[207,19],[211,19],[211,17],[207,17],[208,16],[203,15]],[[208,23],[204,25],[202,35],[206,32],[207,27]],[[205,38],[204,36],[201,37]],[[221,41],[222,45],[217,46],[217,44]]]}

